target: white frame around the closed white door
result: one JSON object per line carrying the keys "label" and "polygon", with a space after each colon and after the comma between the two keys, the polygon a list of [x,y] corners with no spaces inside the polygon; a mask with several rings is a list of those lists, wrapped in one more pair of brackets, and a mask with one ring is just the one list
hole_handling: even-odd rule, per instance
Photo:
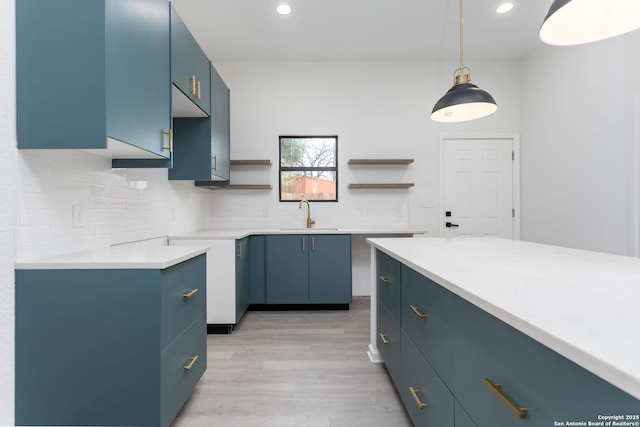
{"label": "white frame around the closed white door", "polygon": [[440,145],[440,228],[439,236],[444,236],[444,144],[450,139],[510,139],[513,142],[512,150],[514,153],[513,167],[511,169],[511,191],[512,191],[512,208],[515,209],[515,216],[511,224],[511,238],[520,240],[520,135],[517,133],[498,133],[498,134],[441,134]]}

